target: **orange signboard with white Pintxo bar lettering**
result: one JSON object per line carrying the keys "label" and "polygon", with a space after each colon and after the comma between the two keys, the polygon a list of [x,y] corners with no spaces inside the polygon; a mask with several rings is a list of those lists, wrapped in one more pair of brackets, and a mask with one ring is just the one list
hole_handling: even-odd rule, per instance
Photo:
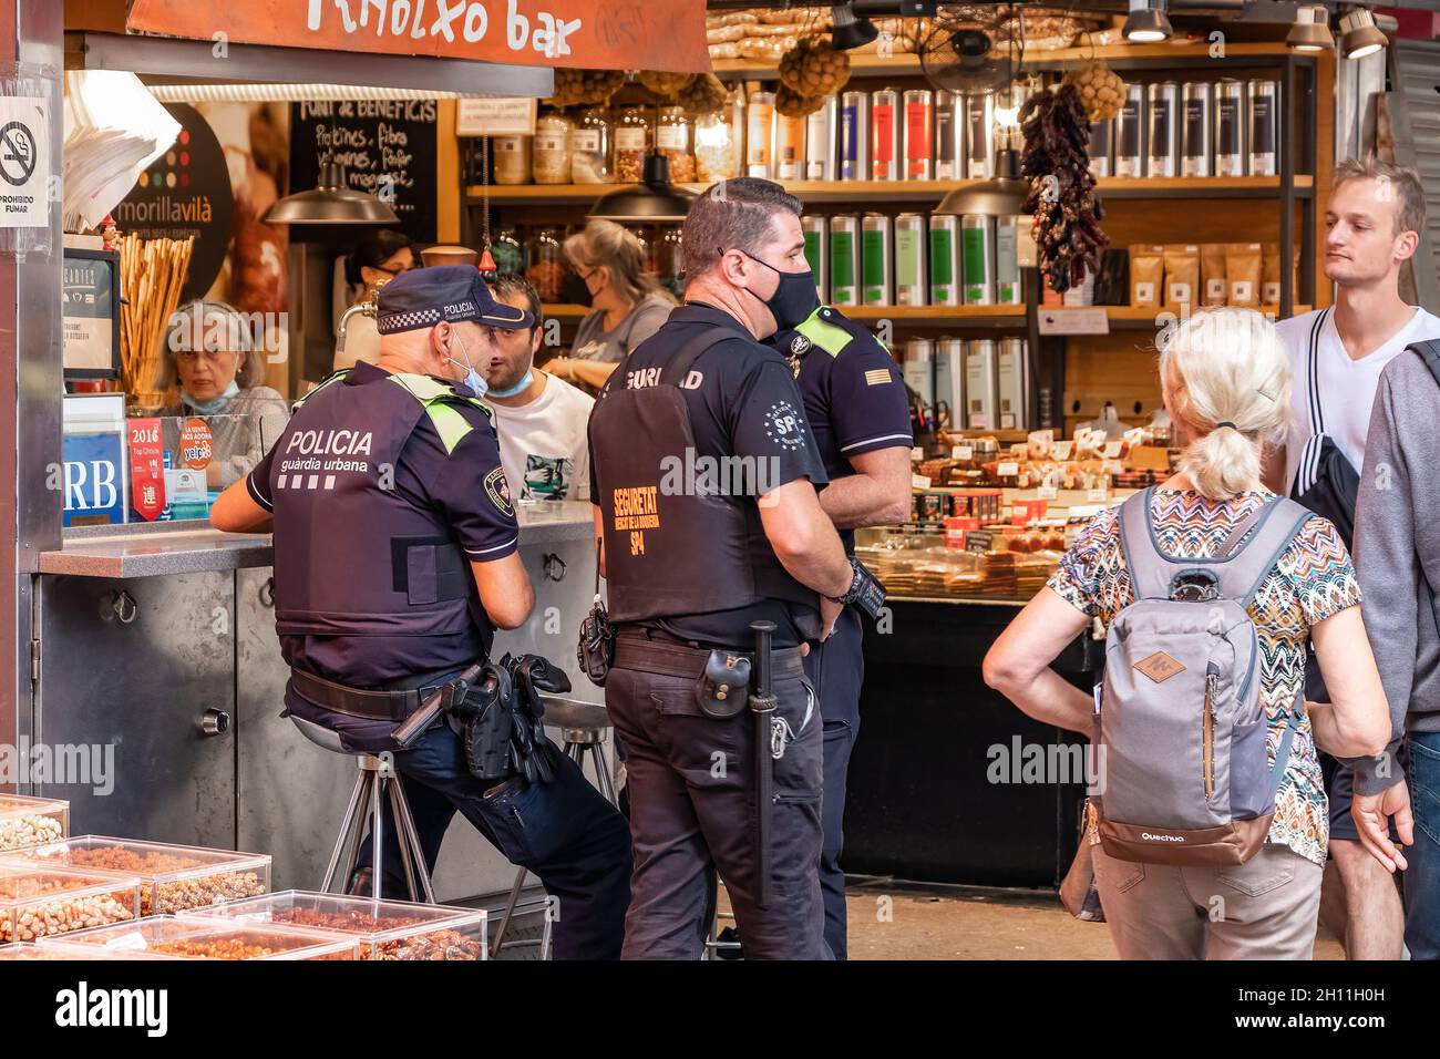
{"label": "orange signboard with white Pintxo bar lettering", "polygon": [[134,0],[125,26],[216,45],[521,66],[710,69],[704,0]]}

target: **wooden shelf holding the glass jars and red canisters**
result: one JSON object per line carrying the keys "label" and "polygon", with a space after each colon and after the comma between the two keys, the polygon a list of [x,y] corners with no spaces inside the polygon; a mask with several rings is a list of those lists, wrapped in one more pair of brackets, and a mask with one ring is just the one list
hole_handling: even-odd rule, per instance
{"label": "wooden shelf holding the glass jars and red canisters", "polygon": [[[971,187],[979,180],[780,180],[791,195],[812,203],[852,205],[857,209],[884,202],[939,202],[949,192]],[[1308,197],[1315,177],[1299,174],[1296,193]],[[586,203],[622,184],[504,184],[490,189],[495,205]],[[708,184],[680,184],[696,193]],[[1280,196],[1280,177],[1102,177],[1106,199],[1270,199]],[[477,184],[465,189],[465,199],[478,203]]]}

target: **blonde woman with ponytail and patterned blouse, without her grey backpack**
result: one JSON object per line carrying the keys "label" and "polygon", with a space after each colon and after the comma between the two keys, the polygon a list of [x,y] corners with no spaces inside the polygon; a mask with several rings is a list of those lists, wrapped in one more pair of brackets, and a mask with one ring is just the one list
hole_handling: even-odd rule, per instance
{"label": "blonde woman with ponytail and patterned blouse, without her grey backpack", "polygon": [[[1259,313],[1211,310],[1161,341],[1159,370],[1165,409],[1185,450],[1179,471],[1149,496],[1151,527],[1166,558],[1212,558],[1231,527],[1274,499],[1260,483],[1260,452],[1289,421],[1284,347]],[[1377,752],[1390,736],[1359,598],[1335,526],[1313,516],[1280,550],[1248,605],[1263,657],[1260,699],[1272,759],[1290,710],[1299,709],[1306,640],[1315,641],[1333,699],[1297,718],[1260,853],[1234,867],[1178,867],[1112,857],[1093,828],[1083,840],[1122,958],[1310,958],[1329,827],[1316,743],[1358,756]],[[1031,718],[1090,736],[1090,694],[1050,663],[1093,618],[1109,624],[1133,601],[1110,509],[1080,533],[1047,588],[991,648],[985,682]],[[1217,896],[1223,916],[1212,915]]]}

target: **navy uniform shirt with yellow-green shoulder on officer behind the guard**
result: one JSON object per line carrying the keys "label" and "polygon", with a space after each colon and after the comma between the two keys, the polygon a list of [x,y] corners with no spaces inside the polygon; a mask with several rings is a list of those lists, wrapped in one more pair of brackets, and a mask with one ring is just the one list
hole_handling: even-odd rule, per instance
{"label": "navy uniform shirt with yellow-green shoulder on officer behind the guard", "polygon": [[[768,343],[798,366],[805,418],[831,481],[855,473],[850,461],[881,448],[910,448],[910,401],[894,357],[863,326],[821,305],[793,330]],[[841,530],[845,552],[855,532]]]}

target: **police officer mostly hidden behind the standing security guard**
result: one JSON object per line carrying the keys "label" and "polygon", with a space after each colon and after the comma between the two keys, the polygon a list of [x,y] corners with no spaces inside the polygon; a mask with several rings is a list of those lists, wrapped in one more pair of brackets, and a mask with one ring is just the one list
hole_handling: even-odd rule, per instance
{"label": "police officer mostly hidden behind the standing security guard", "polygon": [[[769,344],[791,363],[805,418],[829,484],[821,507],[840,529],[845,553],[855,553],[855,527],[893,526],[910,517],[910,402],[894,359],[876,337],[814,297],[804,323],[778,331]],[[865,676],[861,617],[845,607],[835,633],[805,657],[825,722],[825,844],[819,885],[825,895],[825,942],[845,958],[844,844],[845,771],[860,730],[860,686]]]}

